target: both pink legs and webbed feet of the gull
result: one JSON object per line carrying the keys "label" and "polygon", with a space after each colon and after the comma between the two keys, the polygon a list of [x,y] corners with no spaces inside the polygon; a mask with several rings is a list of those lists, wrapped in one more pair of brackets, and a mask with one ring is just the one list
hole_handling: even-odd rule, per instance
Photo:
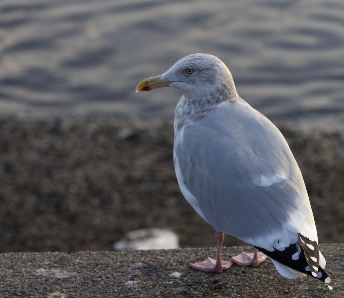
{"label": "both pink legs and webbed feet of the gull", "polygon": [[230,261],[221,261],[223,233],[220,231],[216,231],[215,235],[217,238],[216,260],[208,257],[203,262],[190,263],[190,267],[207,272],[221,273],[223,270],[228,269],[234,263],[239,266],[251,265],[252,267],[258,267],[259,264],[264,262],[266,259],[265,254],[258,252],[258,250],[255,249],[254,253],[247,254],[245,252],[241,252],[237,256],[230,258]]}

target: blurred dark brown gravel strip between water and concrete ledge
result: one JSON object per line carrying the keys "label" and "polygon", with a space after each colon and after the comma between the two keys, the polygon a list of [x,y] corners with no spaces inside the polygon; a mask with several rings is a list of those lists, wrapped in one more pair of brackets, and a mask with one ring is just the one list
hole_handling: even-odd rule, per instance
{"label": "blurred dark brown gravel strip between water and concrete ledge", "polygon": [[[308,188],[320,243],[344,242],[344,134],[278,127]],[[171,121],[105,115],[0,119],[0,252],[101,251],[131,230],[169,228],[182,247],[215,233],[179,190]],[[226,236],[226,246],[243,242]]]}

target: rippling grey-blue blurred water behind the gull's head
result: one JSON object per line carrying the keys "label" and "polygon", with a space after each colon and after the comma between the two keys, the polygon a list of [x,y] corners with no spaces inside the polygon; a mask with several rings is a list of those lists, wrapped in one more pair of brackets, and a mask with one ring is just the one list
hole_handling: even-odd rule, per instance
{"label": "rippling grey-blue blurred water behind the gull's head", "polygon": [[0,111],[172,118],[180,93],[135,94],[191,53],[218,56],[268,117],[344,123],[344,1],[0,1]]}

